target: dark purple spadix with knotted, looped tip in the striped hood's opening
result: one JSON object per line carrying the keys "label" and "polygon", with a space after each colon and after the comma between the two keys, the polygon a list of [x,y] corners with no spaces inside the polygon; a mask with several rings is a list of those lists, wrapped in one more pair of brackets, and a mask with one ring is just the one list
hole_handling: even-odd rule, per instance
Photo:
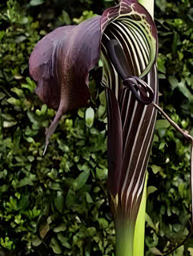
{"label": "dark purple spadix with knotted, looped tip in the striped hood's opening", "polygon": [[107,52],[118,76],[123,80],[124,85],[131,89],[136,100],[145,105],[152,103],[154,100],[154,92],[141,78],[130,75],[130,67],[124,50],[116,39],[108,41]]}

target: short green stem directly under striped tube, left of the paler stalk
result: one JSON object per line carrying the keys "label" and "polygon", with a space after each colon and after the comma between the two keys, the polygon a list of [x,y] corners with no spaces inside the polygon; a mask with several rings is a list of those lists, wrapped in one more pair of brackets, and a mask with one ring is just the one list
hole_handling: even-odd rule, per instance
{"label": "short green stem directly under striped tube, left of the paler stalk", "polygon": [[116,256],[133,256],[135,222],[116,220]]}

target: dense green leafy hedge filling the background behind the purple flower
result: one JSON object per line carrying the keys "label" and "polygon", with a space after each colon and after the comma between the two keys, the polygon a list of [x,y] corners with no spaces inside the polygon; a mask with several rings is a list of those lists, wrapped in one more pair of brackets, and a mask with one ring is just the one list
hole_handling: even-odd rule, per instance
{"label": "dense green leafy hedge filling the background behind the purple flower", "polygon": [[[156,0],[160,105],[193,135],[191,0]],[[106,101],[100,65],[91,72],[92,109],[62,118],[46,156],[55,114],[33,92],[28,59],[56,27],[102,14],[111,0],[0,3],[0,255],[115,255],[106,191]],[[99,63],[100,64],[100,63]],[[158,116],[149,161],[145,255],[188,235],[190,147]],[[193,255],[193,240],[173,255]]]}

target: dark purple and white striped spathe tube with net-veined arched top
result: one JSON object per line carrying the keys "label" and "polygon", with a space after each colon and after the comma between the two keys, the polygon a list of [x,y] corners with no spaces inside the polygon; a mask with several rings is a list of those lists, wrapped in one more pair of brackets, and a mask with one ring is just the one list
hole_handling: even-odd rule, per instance
{"label": "dark purple and white striped spathe tube with net-veined arched top", "polygon": [[[108,106],[109,202],[115,219],[122,215],[136,220],[138,215],[157,111],[152,105],[138,101],[125,85],[110,58],[108,43],[116,40],[120,45],[116,54],[125,76],[151,87],[152,100],[158,103],[158,40],[154,22],[144,10],[136,1],[124,0],[119,6],[106,10],[109,19],[104,18],[102,85],[106,88]],[[140,96],[140,91],[136,89],[136,92]]]}

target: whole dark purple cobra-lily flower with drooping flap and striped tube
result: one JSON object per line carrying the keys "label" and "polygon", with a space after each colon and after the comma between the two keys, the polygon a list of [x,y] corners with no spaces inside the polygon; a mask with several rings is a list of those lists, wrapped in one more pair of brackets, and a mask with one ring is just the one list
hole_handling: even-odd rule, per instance
{"label": "whole dark purple cobra-lily flower with drooping flap and striped tube", "polygon": [[115,225],[126,220],[131,229],[142,199],[156,122],[157,52],[157,31],[149,12],[137,0],[120,0],[102,16],[53,30],[37,43],[29,61],[37,95],[57,110],[46,131],[47,147],[60,117],[87,105],[89,71],[102,59],[109,203]]}

